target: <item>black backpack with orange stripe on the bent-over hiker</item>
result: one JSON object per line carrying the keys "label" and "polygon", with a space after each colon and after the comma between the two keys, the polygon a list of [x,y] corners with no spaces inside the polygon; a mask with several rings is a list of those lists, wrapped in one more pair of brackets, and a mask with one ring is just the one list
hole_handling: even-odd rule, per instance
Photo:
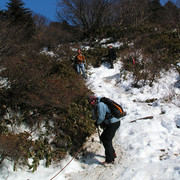
{"label": "black backpack with orange stripe on the bent-over hiker", "polygon": [[101,98],[100,102],[105,103],[109,107],[112,116],[114,116],[115,118],[121,118],[125,115],[123,108],[113,100],[103,97]]}

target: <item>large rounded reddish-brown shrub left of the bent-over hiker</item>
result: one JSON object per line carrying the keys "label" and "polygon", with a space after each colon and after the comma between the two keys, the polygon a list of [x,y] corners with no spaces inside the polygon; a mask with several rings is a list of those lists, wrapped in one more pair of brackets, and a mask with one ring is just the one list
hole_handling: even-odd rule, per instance
{"label": "large rounded reddish-brown shrub left of the bent-over hiker", "polygon": [[[21,55],[3,58],[1,65],[4,68],[0,76],[7,79],[7,86],[1,91],[3,104],[18,112],[22,117],[20,123],[31,128],[41,127],[46,122],[46,133],[39,134],[35,145],[31,144],[34,155],[29,157],[34,159],[33,164],[27,165],[35,171],[40,159],[46,159],[48,166],[67,151],[77,150],[91,134],[93,123],[87,108],[88,89],[71,62],[24,51]],[[14,120],[18,121],[15,116]],[[50,121],[54,126],[49,125]],[[13,127],[17,124],[11,123]],[[0,126],[3,133],[5,126]],[[55,134],[52,144],[47,134]],[[25,147],[24,151],[27,149]],[[17,158],[17,163],[21,162],[21,156]]]}

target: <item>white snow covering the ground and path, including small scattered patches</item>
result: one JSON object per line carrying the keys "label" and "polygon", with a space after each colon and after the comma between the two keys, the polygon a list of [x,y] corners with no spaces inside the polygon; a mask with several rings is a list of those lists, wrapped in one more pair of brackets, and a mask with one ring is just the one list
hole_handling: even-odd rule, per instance
{"label": "white snow covering the ground and path, including small scattered patches", "polygon": [[[112,45],[120,47],[122,43]],[[107,48],[109,44],[102,46]],[[53,52],[47,54],[53,55]],[[81,152],[78,159],[67,155],[59,164],[52,164],[49,168],[41,161],[34,173],[26,167],[13,171],[12,163],[5,161],[0,180],[179,180],[179,74],[172,66],[167,72],[161,72],[161,78],[152,87],[134,88],[132,82],[133,76],[124,72],[120,57],[117,57],[114,69],[103,63],[98,68],[89,66],[87,70],[87,87],[97,96],[113,99],[127,112],[121,118],[121,126],[113,140],[117,154],[113,165],[100,165],[105,160],[104,148],[96,132],[87,139],[84,156]],[[146,100],[150,99],[154,101],[147,103]],[[132,122],[147,116],[153,118]],[[32,138],[36,138],[36,133]]]}

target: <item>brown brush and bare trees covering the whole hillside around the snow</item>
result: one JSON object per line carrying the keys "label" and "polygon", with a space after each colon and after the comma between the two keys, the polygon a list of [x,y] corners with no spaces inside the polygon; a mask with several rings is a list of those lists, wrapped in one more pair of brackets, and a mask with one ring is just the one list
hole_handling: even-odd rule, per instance
{"label": "brown brush and bare trees covering the whole hillside around the snow", "polygon": [[[95,47],[85,55],[96,67],[107,49],[94,39],[122,42],[116,51],[136,87],[151,86],[160,70],[176,65],[180,55],[180,10],[171,2],[162,7],[158,0],[63,0],[58,4],[61,21],[50,23],[32,16],[21,1],[13,2],[0,11],[0,164],[9,159],[15,169],[23,164],[35,171],[41,159],[49,166],[76,152],[93,132],[89,90],[71,61],[77,42],[88,39]],[[44,47],[56,56],[40,53]],[[29,131],[15,132],[21,125]]]}

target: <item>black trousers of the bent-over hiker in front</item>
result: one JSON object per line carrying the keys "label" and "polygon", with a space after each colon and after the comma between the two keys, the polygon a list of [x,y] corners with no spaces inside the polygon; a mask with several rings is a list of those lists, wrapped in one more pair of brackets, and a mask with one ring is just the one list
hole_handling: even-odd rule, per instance
{"label": "black trousers of the bent-over hiker in front", "polygon": [[105,149],[106,162],[114,161],[115,150],[112,145],[112,140],[115,136],[117,129],[120,126],[120,121],[106,125],[103,133],[101,134],[101,141]]}

